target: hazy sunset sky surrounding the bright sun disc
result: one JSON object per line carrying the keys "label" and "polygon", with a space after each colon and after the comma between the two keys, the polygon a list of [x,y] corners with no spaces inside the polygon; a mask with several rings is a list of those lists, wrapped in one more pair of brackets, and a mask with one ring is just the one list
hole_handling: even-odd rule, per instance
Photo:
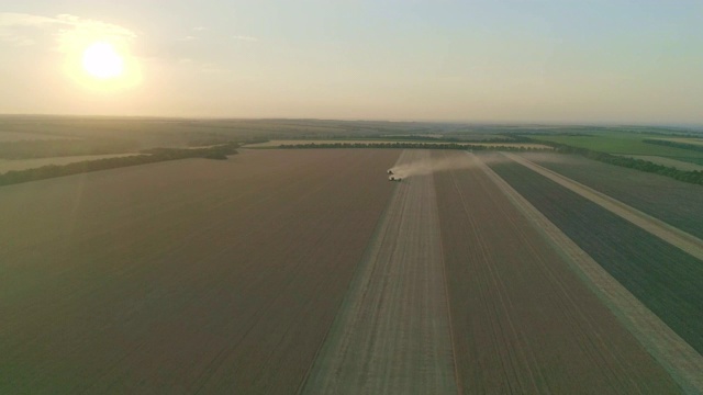
{"label": "hazy sunset sky surrounding the bright sun disc", "polygon": [[0,113],[703,124],[703,1],[0,0]]}

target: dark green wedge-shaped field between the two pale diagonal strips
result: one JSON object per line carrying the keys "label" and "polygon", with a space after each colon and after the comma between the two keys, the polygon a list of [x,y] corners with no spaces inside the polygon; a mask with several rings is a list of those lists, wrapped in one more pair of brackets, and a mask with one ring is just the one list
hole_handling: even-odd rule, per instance
{"label": "dark green wedge-shaped field between the two pale diagonal strips", "polygon": [[517,163],[491,168],[703,352],[703,262]]}

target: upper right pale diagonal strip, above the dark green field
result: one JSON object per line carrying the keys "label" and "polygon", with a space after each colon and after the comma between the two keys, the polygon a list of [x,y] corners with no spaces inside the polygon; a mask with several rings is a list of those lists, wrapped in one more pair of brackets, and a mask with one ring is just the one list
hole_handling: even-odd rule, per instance
{"label": "upper right pale diagonal strip, above the dark green field", "polygon": [[549,180],[560,184],[561,187],[565,187],[572,192],[578,193],[579,195],[631,222],[632,224],[637,225],[644,230],[676,246],[682,251],[700,260],[703,260],[703,240],[699,239],[698,237],[690,235],[679,228],[676,228],[665,223],[663,221],[657,219],[649,214],[640,212],[635,207],[632,207],[578,181],[574,181],[568,177],[559,174],[556,171],[539,166],[528,159],[511,153],[501,154],[506,156],[511,160],[514,160],[517,163],[548,178]]}

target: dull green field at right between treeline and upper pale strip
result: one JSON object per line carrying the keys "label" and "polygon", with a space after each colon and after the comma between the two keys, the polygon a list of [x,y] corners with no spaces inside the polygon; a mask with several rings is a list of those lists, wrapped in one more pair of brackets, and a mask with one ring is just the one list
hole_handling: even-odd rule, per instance
{"label": "dull green field at right between treeline and upper pale strip", "polygon": [[703,239],[703,187],[571,155],[521,154]]}

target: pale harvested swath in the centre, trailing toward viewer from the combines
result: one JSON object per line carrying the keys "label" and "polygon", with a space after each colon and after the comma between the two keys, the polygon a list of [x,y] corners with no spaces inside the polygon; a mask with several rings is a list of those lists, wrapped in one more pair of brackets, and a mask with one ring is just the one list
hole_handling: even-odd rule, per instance
{"label": "pale harvested swath in the centre, trailing toward viewer from the combines", "polygon": [[[399,163],[428,158],[403,151]],[[380,169],[384,170],[384,169]],[[432,174],[398,184],[304,394],[456,394]]]}

